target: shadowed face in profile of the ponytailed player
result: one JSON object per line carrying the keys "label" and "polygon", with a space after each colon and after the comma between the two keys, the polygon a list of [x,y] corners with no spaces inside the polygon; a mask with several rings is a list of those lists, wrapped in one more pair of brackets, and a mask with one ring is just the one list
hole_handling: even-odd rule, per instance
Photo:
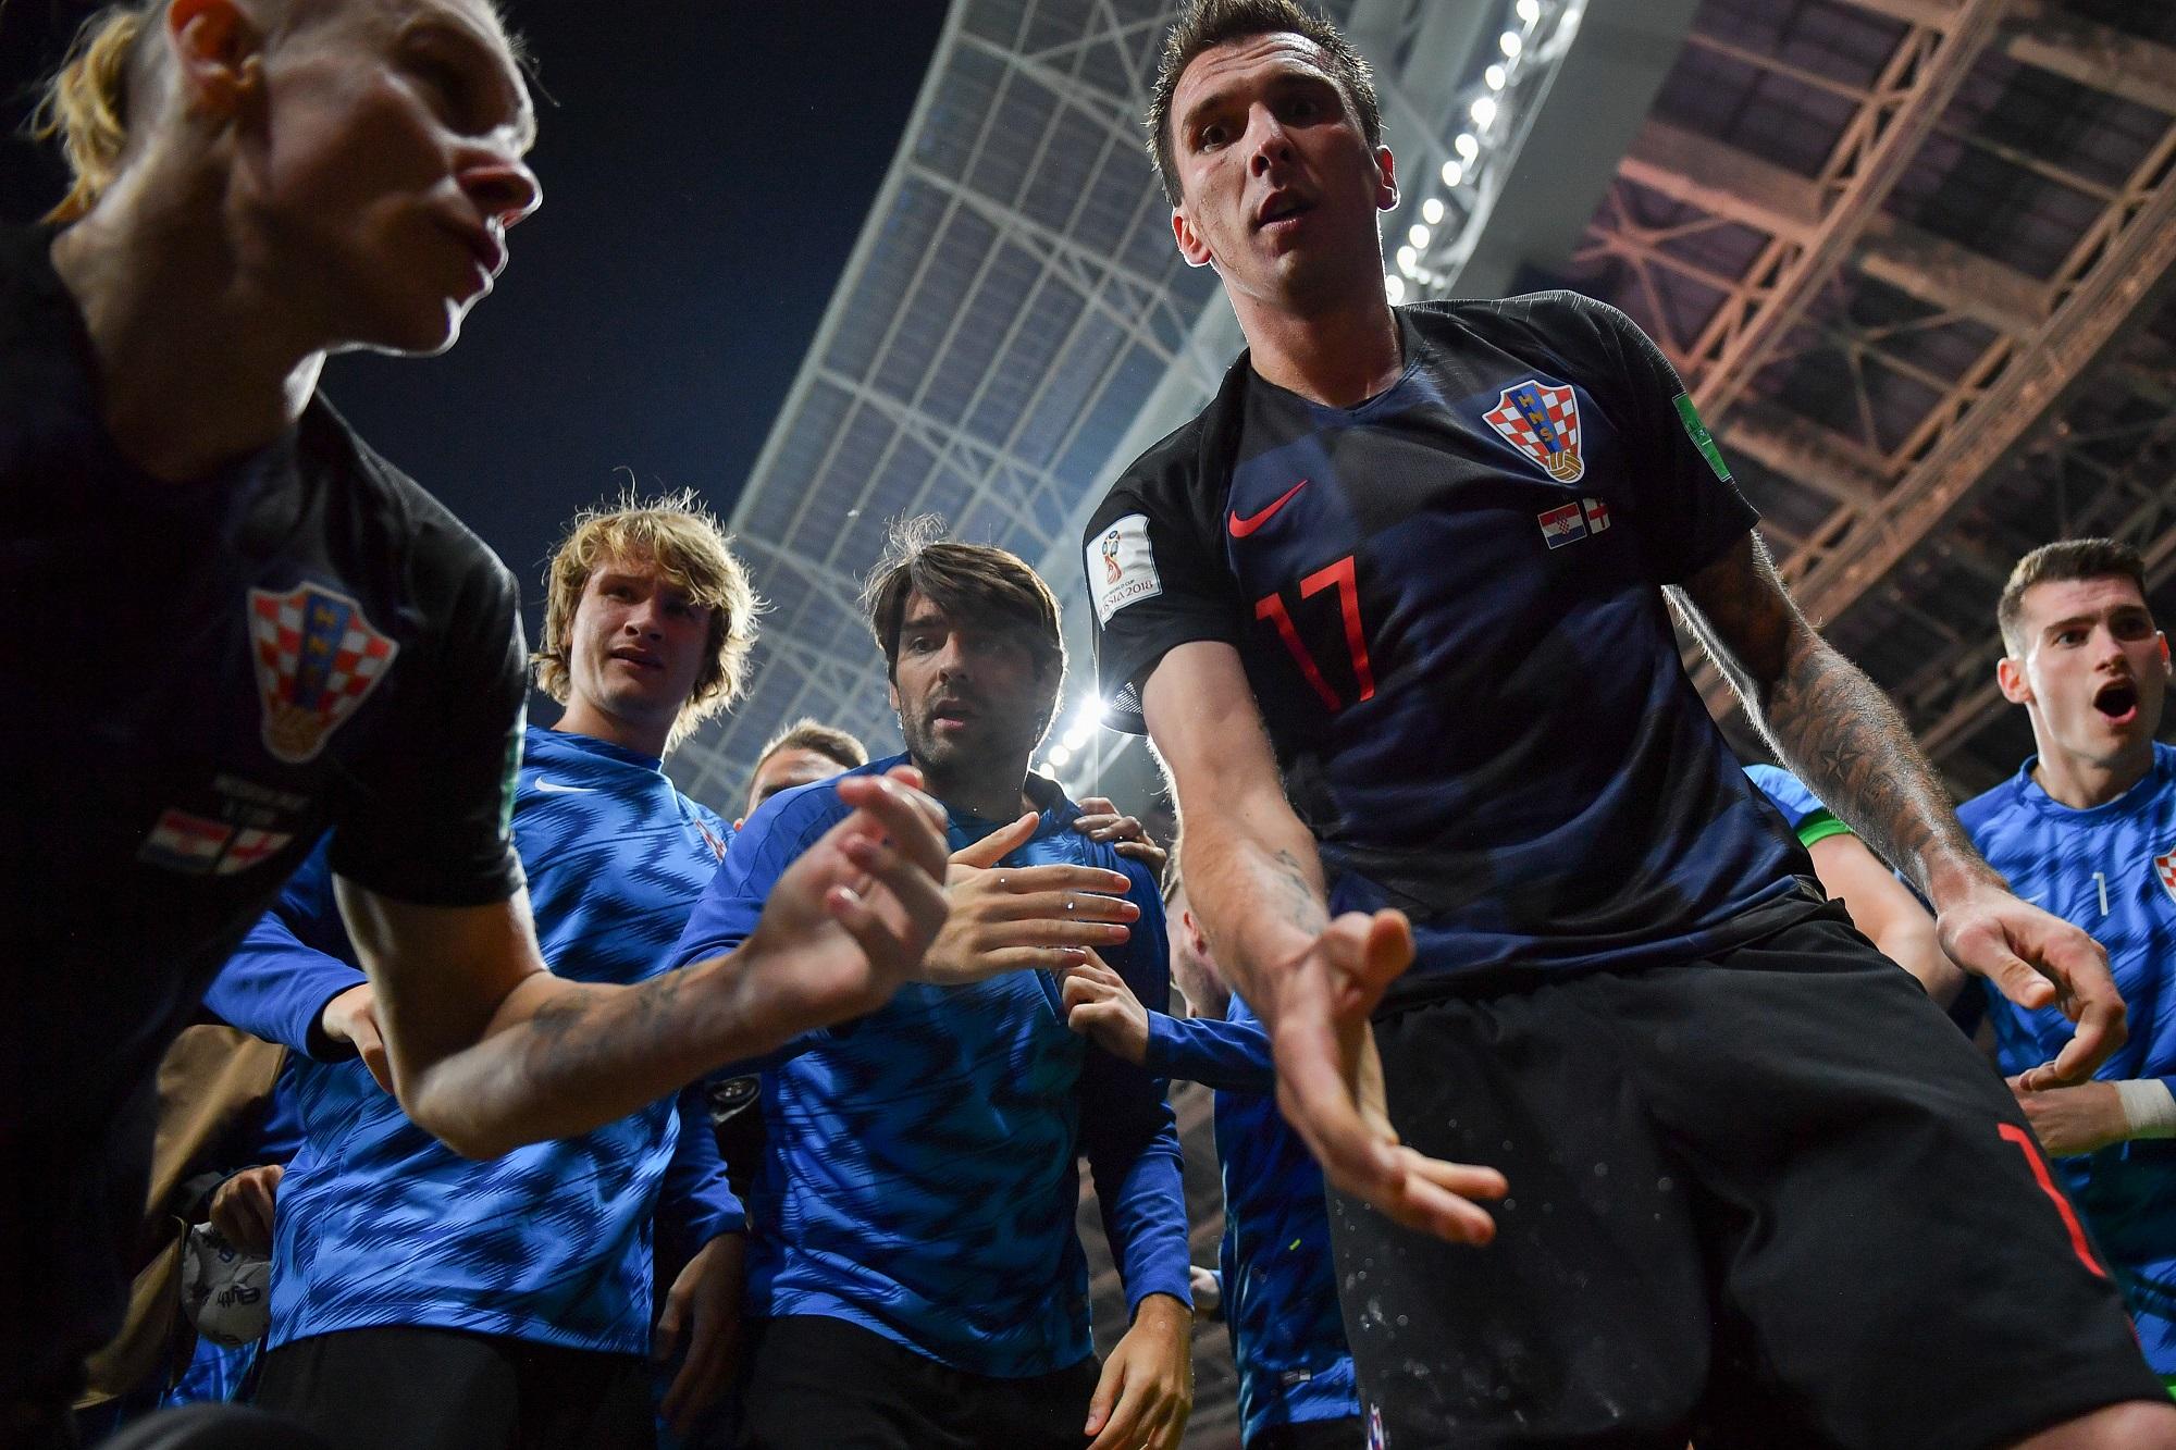
{"label": "shadowed face in profile of the ponytailed player", "polygon": [[437,353],[535,211],[529,91],[479,0],[346,0],[263,54],[239,185],[322,346]]}

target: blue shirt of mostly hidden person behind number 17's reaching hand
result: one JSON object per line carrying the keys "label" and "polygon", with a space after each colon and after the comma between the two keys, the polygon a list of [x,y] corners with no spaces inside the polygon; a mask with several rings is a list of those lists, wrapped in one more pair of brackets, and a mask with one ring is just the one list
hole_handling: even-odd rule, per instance
{"label": "blue shirt of mostly hidden person behind number 17's reaching hand", "polygon": [[1225,1187],[1216,1265],[1238,1365],[1240,1437],[1358,1417],[1323,1169],[1277,1113],[1269,1032],[1238,993],[1223,1021],[1151,1010],[1149,1069],[1216,1089]]}

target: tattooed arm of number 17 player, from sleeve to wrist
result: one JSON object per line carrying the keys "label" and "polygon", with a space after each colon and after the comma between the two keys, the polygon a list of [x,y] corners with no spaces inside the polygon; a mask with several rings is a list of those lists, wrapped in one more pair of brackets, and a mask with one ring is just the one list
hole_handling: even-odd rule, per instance
{"label": "tattooed arm of number 17 player, from sleeve to wrist", "polygon": [[1797,612],[1758,542],[1684,586],[1686,620],[1778,758],[1939,904],[1993,873],[1897,708]]}

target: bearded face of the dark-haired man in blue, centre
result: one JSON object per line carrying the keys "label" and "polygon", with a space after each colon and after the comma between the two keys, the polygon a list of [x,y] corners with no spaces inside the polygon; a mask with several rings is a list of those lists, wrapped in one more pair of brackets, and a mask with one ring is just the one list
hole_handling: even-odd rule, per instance
{"label": "bearded face of the dark-haired man in blue, centre", "polygon": [[1016,625],[955,620],[907,594],[892,666],[892,708],[916,764],[938,773],[1027,769],[1049,727],[1058,671],[1036,671]]}

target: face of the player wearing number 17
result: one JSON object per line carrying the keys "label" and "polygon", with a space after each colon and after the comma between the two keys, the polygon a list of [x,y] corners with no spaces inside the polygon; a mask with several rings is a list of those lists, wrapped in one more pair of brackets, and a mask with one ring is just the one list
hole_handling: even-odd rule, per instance
{"label": "face of the player wearing number 17", "polygon": [[1397,205],[1390,152],[1369,150],[1314,41],[1277,33],[1203,50],[1169,124],[1173,235],[1190,263],[1216,268],[1234,305],[1382,290],[1375,216]]}

